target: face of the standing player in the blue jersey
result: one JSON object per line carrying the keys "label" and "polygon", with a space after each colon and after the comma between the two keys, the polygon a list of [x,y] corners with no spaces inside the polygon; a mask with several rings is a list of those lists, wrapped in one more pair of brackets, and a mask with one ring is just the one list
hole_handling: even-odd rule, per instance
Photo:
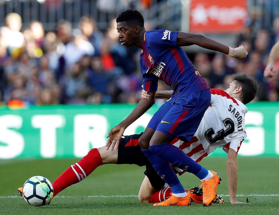
{"label": "face of the standing player in the blue jersey", "polygon": [[125,45],[126,47],[135,45],[136,33],[134,31],[134,28],[126,25],[126,22],[118,22],[116,29],[121,45]]}

